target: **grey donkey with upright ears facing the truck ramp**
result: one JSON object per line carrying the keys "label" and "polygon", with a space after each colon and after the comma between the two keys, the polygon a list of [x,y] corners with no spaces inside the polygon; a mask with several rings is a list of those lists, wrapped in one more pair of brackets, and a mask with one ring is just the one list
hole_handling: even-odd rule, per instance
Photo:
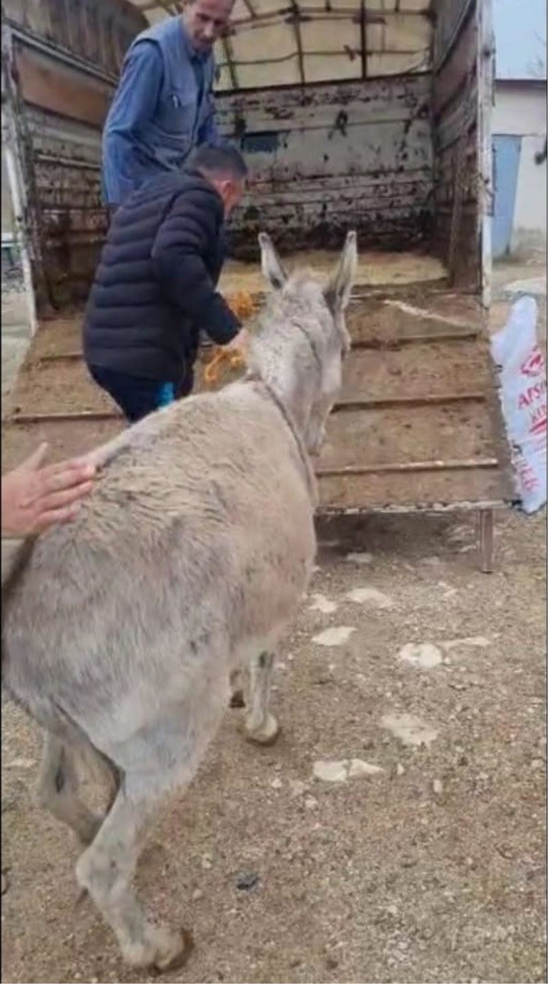
{"label": "grey donkey with upright ears facing the truck ramp", "polygon": [[[84,845],[78,883],[134,966],[165,970],[190,948],[133,891],[147,824],[195,775],[237,671],[247,737],[274,741],[274,653],[316,552],[309,453],[349,346],[356,237],[325,286],[286,277],[260,244],[274,291],[247,376],[92,452],[99,478],[77,519],[35,540],[5,584],[2,674],[46,732],[40,801]],[[83,760],[109,782],[104,816],[79,798]]]}

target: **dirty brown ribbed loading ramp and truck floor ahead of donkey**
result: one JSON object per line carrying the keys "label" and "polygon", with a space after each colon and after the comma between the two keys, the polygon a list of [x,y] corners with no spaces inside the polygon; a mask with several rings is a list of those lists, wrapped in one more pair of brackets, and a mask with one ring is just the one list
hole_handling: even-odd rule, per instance
{"label": "dirty brown ribbed loading ramp and truck floor ahead of donkey", "polygon": [[[315,270],[330,262],[299,257]],[[222,288],[258,294],[264,283],[256,267],[233,264]],[[347,325],[352,351],[316,462],[321,510],[475,510],[481,565],[490,570],[493,510],[512,501],[513,487],[477,298],[448,290],[428,256],[367,254]],[[75,315],[44,323],[33,339],[3,423],[3,467],[38,441],[55,457],[71,455],[122,425],[87,375],[80,330]]]}

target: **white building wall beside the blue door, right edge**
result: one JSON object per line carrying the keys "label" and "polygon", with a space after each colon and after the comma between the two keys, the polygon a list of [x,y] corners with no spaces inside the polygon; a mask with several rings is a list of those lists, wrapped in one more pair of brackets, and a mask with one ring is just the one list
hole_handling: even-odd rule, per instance
{"label": "white building wall beside the blue door, right edge", "polygon": [[535,154],[546,139],[546,83],[498,82],[492,132],[521,137],[518,189],[511,250],[525,255],[546,249],[546,161]]}

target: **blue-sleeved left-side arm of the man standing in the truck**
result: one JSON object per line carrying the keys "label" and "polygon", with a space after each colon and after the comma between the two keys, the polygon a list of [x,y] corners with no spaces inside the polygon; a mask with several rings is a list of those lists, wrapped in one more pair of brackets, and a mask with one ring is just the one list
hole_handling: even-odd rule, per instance
{"label": "blue-sleeved left-side arm of the man standing in the truck", "polygon": [[162,81],[159,48],[140,41],[124,62],[103,133],[103,188],[109,206],[120,205],[133,191],[135,138],[152,119]]}

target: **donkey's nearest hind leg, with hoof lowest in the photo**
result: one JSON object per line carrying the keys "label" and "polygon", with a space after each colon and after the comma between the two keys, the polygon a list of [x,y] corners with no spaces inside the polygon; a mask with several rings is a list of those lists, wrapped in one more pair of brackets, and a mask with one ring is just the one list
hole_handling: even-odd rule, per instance
{"label": "donkey's nearest hind leg, with hoof lowest in the photo", "polygon": [[[228,702],[227,680],[192,705],[172,707],[146,733],[118,747],[124,778],[112,809],[91,846],[80,857],[76,874],[115,933],[122,955],[135,967],[157,970],[181,966],[192,949],[185,931],[153,925],[132,888],[146,829],[158,803],[194,777]],[[217,681],[219,677],[217,675]],[[194,695],[196,698],[196,695]]]}

